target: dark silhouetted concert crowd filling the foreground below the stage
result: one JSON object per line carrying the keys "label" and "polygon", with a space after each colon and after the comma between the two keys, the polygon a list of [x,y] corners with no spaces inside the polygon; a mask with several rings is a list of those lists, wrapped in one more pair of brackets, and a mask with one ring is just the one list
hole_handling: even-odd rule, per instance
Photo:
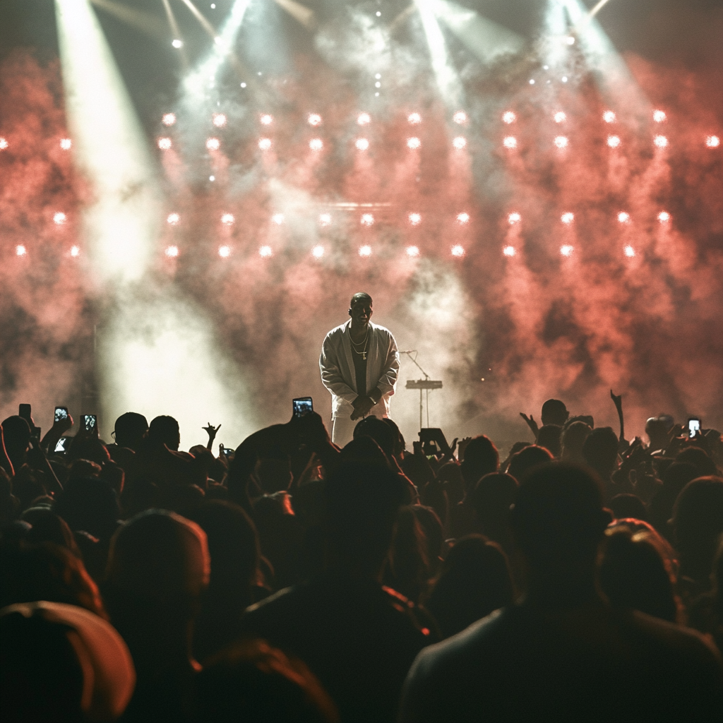
{"label": "dark silhouetted concert crowd filling the foreground below the stage", "polygon": [[411,450],[315,413],[231,453],[129,412],[0,434],[7,721],[723,719],[723,443],[542,406]]}

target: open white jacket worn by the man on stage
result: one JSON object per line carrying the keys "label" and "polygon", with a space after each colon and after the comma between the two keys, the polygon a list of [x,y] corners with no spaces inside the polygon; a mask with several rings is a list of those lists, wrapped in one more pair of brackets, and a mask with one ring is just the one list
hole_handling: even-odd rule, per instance
{"label": "open white jacket worn by the man on stage", "polygon": [[[348,328],[351,319],[332,329],[324,339],[319,357],[322,384],[331,392],[332,416],[351,416],[351,403],[356,392],[354,357]],[[390,330],[369,322],[369,347],[367,348],[367,393],[379,388],[380,401],[369,414],[389,416],[389,398],[394,393],[399,373],[397,343]]]}

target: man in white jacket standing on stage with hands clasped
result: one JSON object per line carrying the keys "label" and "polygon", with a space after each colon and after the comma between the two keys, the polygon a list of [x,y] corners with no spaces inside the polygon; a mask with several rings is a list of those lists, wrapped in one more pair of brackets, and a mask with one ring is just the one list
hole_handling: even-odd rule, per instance
{"label": "man in white jacket standing on stage with hands clasped", "polygon": [[392,333],[369,321],[372,297],[354,294],[349,316],[351,320],[326,335],[319,358],[321,380],[332,399],[331,438],[340,447],[351,441],[362,417],[389,415],[399,372]]}

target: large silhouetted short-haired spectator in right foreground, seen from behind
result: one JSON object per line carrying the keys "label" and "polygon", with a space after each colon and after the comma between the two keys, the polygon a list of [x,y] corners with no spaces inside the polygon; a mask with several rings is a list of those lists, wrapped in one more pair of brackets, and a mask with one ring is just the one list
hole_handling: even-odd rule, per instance
{"label": "large silhouetted short-haired spectator in right foreground, seen from behind", "polygon": [[608,521],[600,483],[582,469],[552,463],[523,479],[513,529],[526,599],[422,651],[401,720],[719,721],[714,647],[596,593]]}

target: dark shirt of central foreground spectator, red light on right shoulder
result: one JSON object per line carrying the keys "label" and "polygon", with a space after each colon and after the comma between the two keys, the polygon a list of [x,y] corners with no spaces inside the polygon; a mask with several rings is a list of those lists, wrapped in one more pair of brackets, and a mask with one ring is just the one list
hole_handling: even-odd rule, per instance
{"label": "dark shirt of central foreground spectator, red light on right shoulder", "polygon": [[342,721],[395,720],[408,669],[435,639],[400,594],[333,572],[249,607],[242,628],[303,660]]}

